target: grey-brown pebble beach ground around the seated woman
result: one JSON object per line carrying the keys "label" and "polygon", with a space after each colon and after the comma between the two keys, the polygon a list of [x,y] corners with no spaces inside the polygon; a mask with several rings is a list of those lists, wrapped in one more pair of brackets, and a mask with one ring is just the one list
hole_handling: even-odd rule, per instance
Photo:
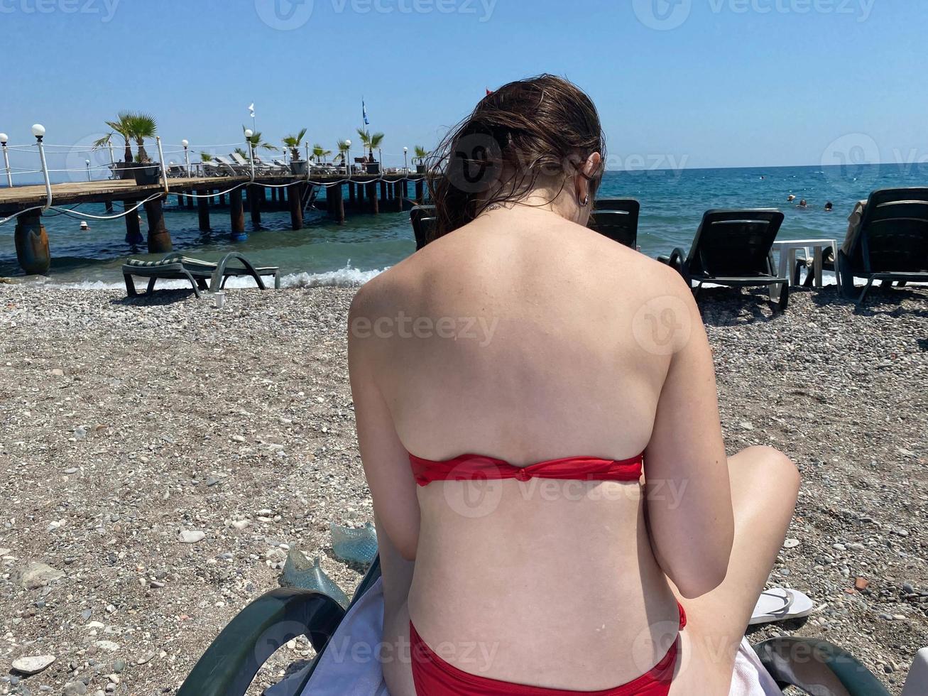
{"label": "grey-brown pebble beach ground around the seated woman", "polygon": [[[354,588],[329,537],[329,522],[371,519],[353,294],[231,290],[215,310],[184,290],[0,285],[0,694],[173,693],[277,586],[290,546]],[[817,610],[751,638],[827,638],[898,693],[928,645],[928,293],[876,292],[855,312],[800,290],[776,318],[712,294],[730,451],[776,445],[804,477],[771,584]],[[56,659],[32,677],[11,669],[41,655]],[[311,655],[278,651],[250,693]]]}

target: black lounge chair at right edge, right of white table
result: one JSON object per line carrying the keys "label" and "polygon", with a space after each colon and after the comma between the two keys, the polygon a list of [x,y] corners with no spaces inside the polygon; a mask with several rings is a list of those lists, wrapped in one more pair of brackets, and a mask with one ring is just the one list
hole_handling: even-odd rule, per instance
{"label": "black lounge chair at right edge, right of white table", "polygon": [[870,194],[850,248],[838,250],[844,297],[853,299],[854,278],[867,278],[863,303],[874,280],[928,282],[928,188],[884,188]]}

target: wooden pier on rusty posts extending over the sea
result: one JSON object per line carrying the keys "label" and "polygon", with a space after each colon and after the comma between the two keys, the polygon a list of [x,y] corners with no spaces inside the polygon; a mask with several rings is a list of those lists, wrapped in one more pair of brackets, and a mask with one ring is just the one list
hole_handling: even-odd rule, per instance
{"label": "wooden pier on rusty posts extending over the sea", "polygon": [[[410,185],[413,185],[413,191],[410,191],[413,188]],[[235,190],[228,191],[237,186]],[[166,187],[167,191],[164,180],[158,184],[138,186],[132,179],[53,184],[52,205],[104,203],[106,214],[109,215],[115,214],[114,202],[119,204],[121,210],[127,210],[146,201],[142,208],[148,219],[148,251],[159,253],[171,251],[173,246],[171,233],[164,222],[163,203],[169,196],[177,197],[178,206],[196,207],[200,230],[204,232],[211,229],[211,211],[227,208],[232,238],[236,240],[246,238],[246,210],[255,227],[261,225],[263,210],[290,211],[290,226],[298,230],[303,229],[303,210],[311,200],[315,202],[316,208],[341,224],[349,213],[377,214],[409,210],[422,202],[424,196],[422,175],[402,172],[352,174],[350,178],[344,174],[315,175],[311,181],[305,175],[289,174],[256,175],[253,181],[249,176],[236,175],[168,178]],[[348,189],[347,196],[345,187]],[[323,192],[324,195],[319,195]],[[159,193],[161,196],[158,196]],[[243,193],[245,200],[242,200]],[[410,193],[413,193],[413,197],[410,197]],[[45,202],[45,185],[0,188],[0,217],[44,206]],[[139,214],[123,216],[126,243],[133,246],[141,246],[146,241],[139,226],[142,208]],[[14,237],[19,265],[28,274],[45,274],[51,264],[51,253],[45,226],[42,225],[42,211],[31,210],[19,214],[16,222]]]}

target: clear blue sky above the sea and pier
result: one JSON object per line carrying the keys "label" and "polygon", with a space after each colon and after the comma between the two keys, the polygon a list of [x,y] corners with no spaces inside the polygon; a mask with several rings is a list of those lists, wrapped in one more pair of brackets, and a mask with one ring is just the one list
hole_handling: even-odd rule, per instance
{"label": "clear blue sky above the sea and pier", "polygon": [[363,95],[402,162],[547,71],[594,98],[613,169],[928,157],[921,0],[0,0],[0,28],[11,143],[83,144],[121,109],[233,143],[253,101],[266,138],[334,148]]}

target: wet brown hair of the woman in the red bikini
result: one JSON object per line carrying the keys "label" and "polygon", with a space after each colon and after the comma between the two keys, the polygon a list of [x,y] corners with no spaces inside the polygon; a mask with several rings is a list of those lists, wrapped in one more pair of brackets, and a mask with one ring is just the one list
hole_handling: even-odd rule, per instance
{"label": "wet brown hair of the woman in the red bikini", "polygon": [[[490,205],[520,201],[539,177],[560,187],[557,198],[591,154],[605,161],[605,147],[599,113],[575,84],[545,74],[503,85],[432,154],[436,222],[429,241],[467,225]],[[588,177],[591,199],[603,169],[600,164]]]}

